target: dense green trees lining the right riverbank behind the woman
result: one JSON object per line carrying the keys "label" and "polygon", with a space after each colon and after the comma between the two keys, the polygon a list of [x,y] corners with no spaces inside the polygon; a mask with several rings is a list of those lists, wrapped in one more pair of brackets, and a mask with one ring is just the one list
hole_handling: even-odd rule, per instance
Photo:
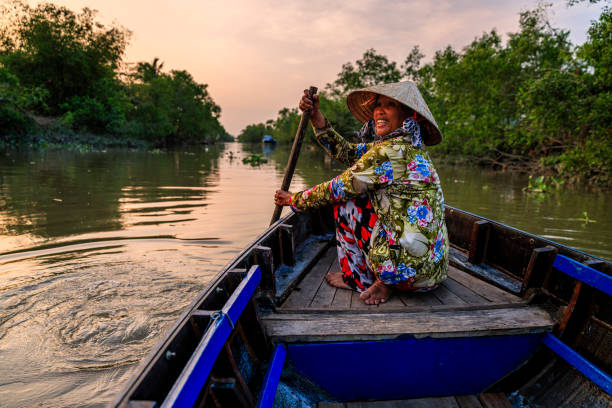
{"label": "dense green trees lining the right riverbank behind the woman", "polygon": [[[360,60],[344,64],[320,93],[321,112],[341,134],[354,135],[361,123],[348,111],[346,94],[409,79],[419,86],[444,135],[431,148],[437,156],[609,188],[611,9],[605,7],[592,21],[580,46],[568,40],[569,31],[551,26],[547,6],[520,13],[519,27],[505,43],[493,29],[460,51],[450,46],[437,51],[425,64],[418,45],[401,65],[366,50]],[[291,143],[299,117],[296,108],[283,108],[276,119],[248,125],[238,140],[260,142],[270,134],[279,143]],[[314,143],[313,138],[305,143]]]}

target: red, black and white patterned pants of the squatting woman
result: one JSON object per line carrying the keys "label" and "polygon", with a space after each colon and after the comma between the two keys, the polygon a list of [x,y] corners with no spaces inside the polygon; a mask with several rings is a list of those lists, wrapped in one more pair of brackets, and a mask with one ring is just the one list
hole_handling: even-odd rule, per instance
{"label": "red, black and white patterned pants of the squatting woman", "polygon": [[[367,195],[334,206],[336,246],[342,280],[357,292],[367,290],[376,281],[368,265],[370,237],[378,216]],[[438,287],[416,288],[408,282],[393,285],[400,291],[425,292]]]}

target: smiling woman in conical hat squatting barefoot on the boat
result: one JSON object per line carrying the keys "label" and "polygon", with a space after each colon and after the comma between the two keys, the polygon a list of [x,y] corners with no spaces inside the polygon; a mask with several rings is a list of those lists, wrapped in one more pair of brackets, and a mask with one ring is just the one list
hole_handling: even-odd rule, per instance
{"label": "smiling woman in conical hat squatting barefoot on the boat", "polygon": [[351,92],[351,113],[364,122],[349,143],[304,93],[317,142],[351,166],[332,180],[292,194],[278,190],[275,203],[295,211],[334,204],[341,272],[327,282],[361,292],[366,304],[386,302],[393,290],[436,288],[448,273],[448,238],[440,180],[423,144],[442,135],[416,85],[410,81]]}

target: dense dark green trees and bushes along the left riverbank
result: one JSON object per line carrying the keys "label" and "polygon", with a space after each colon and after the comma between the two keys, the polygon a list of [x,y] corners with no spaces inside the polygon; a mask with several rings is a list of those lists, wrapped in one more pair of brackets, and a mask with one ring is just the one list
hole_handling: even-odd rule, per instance
{"label": "dense dark green trees and bushes along the left riverbank", "polygon": [[15,0],[0,11],[0,144],[75,132],[163,146],[229,137],[206,84],[161,72],[158,59],[123,62],[125,28],[87,8]]}

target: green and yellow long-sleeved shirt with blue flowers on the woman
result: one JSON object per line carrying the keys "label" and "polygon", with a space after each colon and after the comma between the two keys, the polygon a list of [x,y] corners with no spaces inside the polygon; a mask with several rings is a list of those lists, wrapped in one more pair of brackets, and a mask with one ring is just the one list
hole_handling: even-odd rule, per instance
{"label": "green and yellow long-sleeved shirt with blue flowers on the woman", "polygon": [[350,168],[293,194],[292,205],[306,210],[367,193],[378,215],[368,254],[378,278],[386,284],[408,282],[417,288],[446,278],[449,244],[444,196],[429,154],[402,137],[355,144],[330,126],[315,133],[321,147]]}

